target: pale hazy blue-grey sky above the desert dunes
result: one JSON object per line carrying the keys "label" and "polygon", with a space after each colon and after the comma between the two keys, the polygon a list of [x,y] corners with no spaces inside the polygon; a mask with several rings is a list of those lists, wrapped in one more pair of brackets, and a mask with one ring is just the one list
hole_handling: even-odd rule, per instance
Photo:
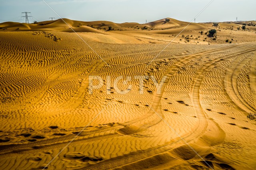
{"label": "pale hazy blue-grey sky above the desert dunes", "polygon": [[[61,18],[116,23],[174,18],[191,21],[211,0],[45,0]],[[214,0],[196,22],[256,20],[256,0]],[[42,0],[0,0],[0,22],[18,21],[21,12],[33,20],[59,17]]]}

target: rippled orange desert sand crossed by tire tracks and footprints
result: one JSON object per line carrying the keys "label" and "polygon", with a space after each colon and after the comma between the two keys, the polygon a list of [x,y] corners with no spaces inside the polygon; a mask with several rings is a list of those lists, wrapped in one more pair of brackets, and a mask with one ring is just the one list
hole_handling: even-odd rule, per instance
{"label": "rippled orange desert sand crossed by tire tracks and footprints", "polygon": [[0,169],[255,169],[255,27],[167,19],[0,23]]}

